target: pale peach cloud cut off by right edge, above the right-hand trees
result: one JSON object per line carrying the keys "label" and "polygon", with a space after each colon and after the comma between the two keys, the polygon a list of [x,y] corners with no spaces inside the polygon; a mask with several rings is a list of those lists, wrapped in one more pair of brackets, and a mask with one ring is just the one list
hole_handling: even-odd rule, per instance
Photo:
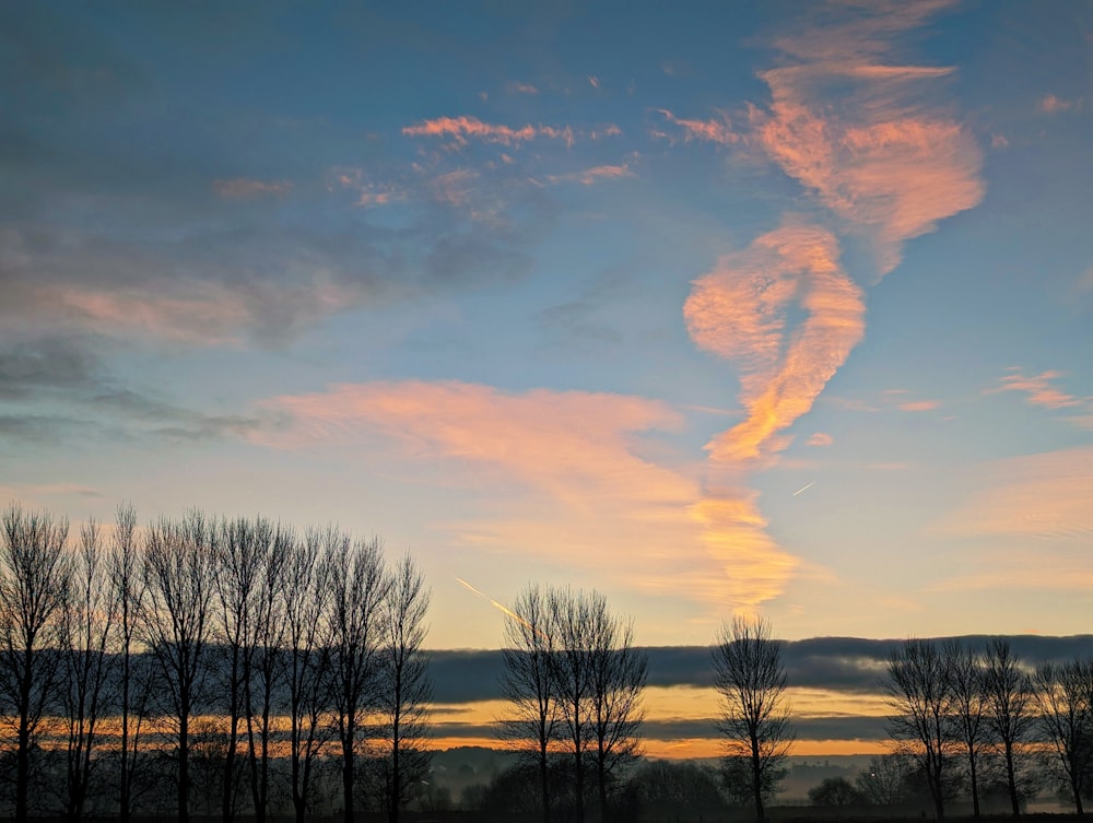
{"label": "pale peach cloud cut off by right edge, above the right-hand trees", "polygon": [[[1093,447],[996,460],[982,466],[980,473],[985,487],[938,524],[941,533],[1078,540],[1089,545],[1093,537]],[[1082,565],[1088,568],[1084,559]],[[1057,580],[1066,577],[1055,565],[1045,568]]]}

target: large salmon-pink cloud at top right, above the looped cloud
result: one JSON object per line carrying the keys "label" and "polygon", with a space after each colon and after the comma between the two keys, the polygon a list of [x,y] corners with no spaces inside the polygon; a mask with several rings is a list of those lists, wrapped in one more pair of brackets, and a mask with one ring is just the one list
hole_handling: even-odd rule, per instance
{"label": "large salmon-pink cloud at top right, above the looped cloud", "polygon": [[752,107],[749,141],[875,245],[879,273],[904,242],[983,198],[983,153],[941,106],[926,103],[948,67],[893,64],[896,35],[943,3],[846,10],[777,46],[796,63],[760,73],[768,107]]}

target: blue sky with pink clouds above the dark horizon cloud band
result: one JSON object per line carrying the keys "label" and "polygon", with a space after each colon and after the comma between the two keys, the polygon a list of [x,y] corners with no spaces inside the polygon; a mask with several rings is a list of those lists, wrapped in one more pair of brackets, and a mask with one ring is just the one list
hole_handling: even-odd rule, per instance
{"label": "blue sky with pink clouds above the dark horizon cloud band", "polygon": [[643,645],[1093,606],[1093,7],[0,7],[0,501]]}

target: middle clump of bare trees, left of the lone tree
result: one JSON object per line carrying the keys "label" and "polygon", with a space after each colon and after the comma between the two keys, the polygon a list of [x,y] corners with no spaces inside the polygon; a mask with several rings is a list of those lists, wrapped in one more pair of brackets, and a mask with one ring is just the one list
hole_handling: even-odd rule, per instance
{"label": "middle clump of bare trees, left of the lone tree", "polygon": [[589,779],[599,820],[609,820],[644,719],[648,659],[634,646],[633,623],[597,591],[531,585],[506,610],[503,655],[510,710],[498,730],[538,774],[544,823],[562,803],[583,822]]}

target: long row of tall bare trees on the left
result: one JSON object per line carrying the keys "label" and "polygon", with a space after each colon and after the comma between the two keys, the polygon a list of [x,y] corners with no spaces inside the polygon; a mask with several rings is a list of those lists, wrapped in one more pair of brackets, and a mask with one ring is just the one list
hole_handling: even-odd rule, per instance
{"label": "long row of tall bare trees on the left", "polygon": [[345,820],[367,777],[397,823],[427,774],[432,696],[431,592],[409,554],[388,567],[375,538],[199,512],[138,529],[121,507],[113,529],[91,521],[75,545],[46,513],[12,505],[2,526],[0,717],[16,821],[35,757],[60,750],[69,820],[108,785],[129,821],[142,769],[169,752],[186,823],[195,724],[213,715],[225,823],[243,804],[265,821],[274,788],[303,821],[332,759]]}

